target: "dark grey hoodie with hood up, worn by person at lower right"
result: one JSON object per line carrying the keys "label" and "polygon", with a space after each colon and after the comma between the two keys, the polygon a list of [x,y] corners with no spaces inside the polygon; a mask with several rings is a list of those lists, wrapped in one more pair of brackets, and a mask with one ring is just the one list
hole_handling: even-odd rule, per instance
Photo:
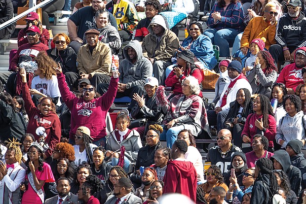
{"label": "dark grey hoodie with hood up, worn by person at lower right", "polygon": [[291,184],[291,190],[293,190],[296,195],[299,195],[302,180],[301,170],[291,165],[290,156],[285,150],[281,149],[275,151],[274,155],[270,158],[270,160],[272,160],[273,162],[274,159],[280,163],[283,168],[282,170],[287,173]]}

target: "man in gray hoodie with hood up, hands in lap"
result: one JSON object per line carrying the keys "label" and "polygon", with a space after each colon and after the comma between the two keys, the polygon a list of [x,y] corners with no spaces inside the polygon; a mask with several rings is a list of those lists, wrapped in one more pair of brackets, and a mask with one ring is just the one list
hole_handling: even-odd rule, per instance
{"label": "man in gray hoodie with hood up, hands in lap", "polygon": [[[152,63],[142,55],[142,48],[137,40],[130,41],[123,51],[125,59],[119,65],[119,83],[116,98],[128,96],[133,99],[133,94],[145,95],[145,81],[152,76]],[[97,92],[101,95],[106,93],[109,84],[99,84]],[[136,101],[132,100],[129,111],[136,106]]]}

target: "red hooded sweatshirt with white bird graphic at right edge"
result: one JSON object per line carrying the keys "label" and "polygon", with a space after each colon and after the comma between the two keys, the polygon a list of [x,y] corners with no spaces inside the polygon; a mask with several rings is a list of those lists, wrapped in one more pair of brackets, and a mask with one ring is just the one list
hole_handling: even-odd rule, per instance
{"label": "red hooded sweatshirt with white bird graphic at right edge", "polygon": [[[278,24],[277,24],[278,25]],[[306,25],[305,25],[306,27]],[[306,31],[305,31],[306,32]],[[295,39],[296,40],[296,39]],[[306,47],[301,47],[299,49],[302,49],[306,51]],[[295,55],[294,55],[294,62],[295,62]],[[294,91],[296,90],[296,87],[299,84],[303,84],[303,74],[302,74],[302,68],[297,68],[296,64],[290,64],[284,67],[277,77],[276,80],[277,83],[283,83],[286,85],[286,88],[291,88]]]}

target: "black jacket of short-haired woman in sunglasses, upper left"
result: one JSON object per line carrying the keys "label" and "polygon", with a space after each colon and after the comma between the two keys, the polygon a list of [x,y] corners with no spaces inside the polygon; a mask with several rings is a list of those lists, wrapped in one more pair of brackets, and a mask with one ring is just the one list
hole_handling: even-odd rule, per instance
{"label": "black jacket of short-haired woman in sunglasses, upper left", "polygon": [[71,47],[67,47],[65,50],[58,52],[56,48],[49,49],[46,51],[47,55],[51,57],[55,62],[59,62],[63,73],[65,74],[68,71],[76,72],[76,52]]}

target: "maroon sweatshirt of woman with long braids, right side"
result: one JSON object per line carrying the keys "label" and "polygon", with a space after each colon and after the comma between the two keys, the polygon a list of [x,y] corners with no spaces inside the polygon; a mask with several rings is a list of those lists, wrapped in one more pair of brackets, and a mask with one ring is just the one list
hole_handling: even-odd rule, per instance
{"label": "maroon sweatshirt of woman with long braids, right side", "polygon": [[[246,135],[250,137],[251,143],[253,141],[253,136],[256,134],[261,134],[261,131],[255,126],[256,119],[260,120],[263,116],[259,116],[256,113],[250,114],[245,121],[243,131],[241,136]],[[273,147],[273,139],[276,135],[276,120],[272,115],[268,115],[268,124],[266,132],[264,132],[264,136],[266,136],[269,140],[269,147]]]}

